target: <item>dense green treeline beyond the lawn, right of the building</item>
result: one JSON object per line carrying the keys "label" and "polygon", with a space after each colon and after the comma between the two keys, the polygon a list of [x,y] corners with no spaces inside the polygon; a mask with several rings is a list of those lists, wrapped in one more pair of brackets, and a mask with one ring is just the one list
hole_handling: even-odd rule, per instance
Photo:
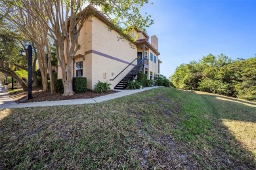
{"label": "dense green treeline beyond the lawn, right of the building", "polygon": [[171,82],[181,89],[256,101],[256,56],[232,61],[224,54],[209,54],[200,61],[179,65]]}

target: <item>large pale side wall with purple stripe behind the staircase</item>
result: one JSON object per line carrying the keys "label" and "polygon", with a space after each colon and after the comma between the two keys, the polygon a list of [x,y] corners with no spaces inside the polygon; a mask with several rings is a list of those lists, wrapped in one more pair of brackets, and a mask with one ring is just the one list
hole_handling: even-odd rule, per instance
{"label": "large pale side wall with purple stripe behind the staircase", "polygon": [[[129,41],[127,40],[119,40],[117,37],[119,34],[112,30],[109,31],[106,24],[98,20],[98,18],[92,18],[92,30],[93,30],[93,39],[92,39],[92,47],[93,50],[106,54],[108,56],[112,56],[117,59],[122,59],[128,63],[131,63],[135,58],[137,58],[137,48],[135,46],[131,46]],[[119,74],[125,67],[127,67],[127,63],[123,63],[120,61],[116,61],[114,59],[106,58],[104,56],[100,56],[98,54],[93,54],[93,67],[92,67],[92,88],[95,88],[95,84],[100,81],[110,82],[111,88],[114,88],[116,84],[123,78],[123,76],[127,75],[129,71],[133,68],[133,66],[129,66],[121,75],[117,76],[114,81],[110,81],[110,79],[114,78],[117,74]],[[133,64],[137,64],[137,60],[133,62]],[[103,75],[106,73],[107,77],[104,78]],[[112,75],[112,73],[114,75]]]}

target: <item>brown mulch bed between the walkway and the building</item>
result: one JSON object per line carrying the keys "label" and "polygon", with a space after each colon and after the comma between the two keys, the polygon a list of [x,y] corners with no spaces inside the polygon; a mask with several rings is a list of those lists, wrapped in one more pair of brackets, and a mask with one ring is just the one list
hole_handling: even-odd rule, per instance
{"label": "brown mulch bed between the walkway and the building", "polygon": [[117,93],[117,91],[96,93],[95,91],[88,90],[85,93],[75,93],[71,96],[63,96],[60,93],[51,93],[51,92],[43,92],[42,88],[33,88],[32,96],[33,99],[27,100],[28,92],[14,93],[12,94],[12,98],[16,103],[30,103],[30,102],[38,102],[38,101],[58,101],[58,100],[70,100],[70,99],[90,99],[94,97],[99,97],[102,95],[108,95],[111,93]]}

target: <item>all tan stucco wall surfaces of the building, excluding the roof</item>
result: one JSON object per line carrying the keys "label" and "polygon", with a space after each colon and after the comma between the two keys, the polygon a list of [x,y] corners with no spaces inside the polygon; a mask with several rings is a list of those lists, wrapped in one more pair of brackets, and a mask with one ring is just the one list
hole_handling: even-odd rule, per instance
{"label": "all tan stucco wall surfaces of the building, excluding the roof", "polygon": [[[92,21],[92,22],[91,22]],[[106,24],[96,17],[92,17],[91,21],[86,21],[83,25],[80,35],[79,44],[81,48],[77,54],[85,55],[85,58],[74,59],[74,76],[76,76],[75,63],[83,61],[83,76],[87,77],[87,88],[90,90],[95,89],[96,83],[99,81],[108,81],[112,85],[112,89],[121,81],[121,79],[129,73],[129,71],[137,64],[137,51],[142,51],[128,40],[119,40],[119,33],[112,30],[109,31]],[[137,31],[135,31],[138,33]],[[145,39],[142,33],[139,33],[137,39]],[[150,71],[158,75],[158,56],[152,50],[148,51],[148,79],[150,78]],[[150,52],[156,56],[156,63],[150,61]],[[98,54],[100,53],[100,54]],[[117,61],[121,59],[122,61]],[[135,61],[133,61],[135,59]],[[133,65],[127,67],[133,61]],[[117,76],[125,67],[125,71]],[[106,77],[104,77],[106,73]],[[110,79],[117,76],[115,80]],[[58,78],[61,78],[61,69],[58,67]]]}

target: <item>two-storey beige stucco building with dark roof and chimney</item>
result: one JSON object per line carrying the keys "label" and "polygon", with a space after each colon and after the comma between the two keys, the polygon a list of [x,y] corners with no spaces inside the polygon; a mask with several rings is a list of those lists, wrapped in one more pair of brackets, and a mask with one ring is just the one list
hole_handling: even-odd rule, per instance
{"label": "two-storey beige stucco building with dark roof and chimney", "polygon": [[[109,27],[112,28],[111,31]],[[123,78],[127,78],[131,70],[146,73],[148,79],[156,78],[160,74],[161,63],[158,38],[156,35],[152,36],[150,43],[148,35],[137,29],[131,36],[136,37],[137,41],[133,42],[129,38],[119,39],[120,35],[114,25],[100,12],[95,12],[85,21],[80,31],[78,42],[81,48],[74,56],[73,75],[85,76],[87,88],[90,90],[94,90],[98,81],[108,81],[112,84],[112,89],[122,89],[127,82]],[[138,69],[135,70],[135,67]],[[137,74],[135,72],[133,76]],[[58,68],[58,78],[61,76],[61,69]]]}

